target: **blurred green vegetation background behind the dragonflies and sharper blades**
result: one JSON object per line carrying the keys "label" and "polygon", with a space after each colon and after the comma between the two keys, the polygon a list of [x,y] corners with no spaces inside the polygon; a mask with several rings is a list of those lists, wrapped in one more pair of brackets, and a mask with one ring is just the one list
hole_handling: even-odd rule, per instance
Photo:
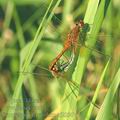
{"label": "blurred green vegetation background behind the dragonflies and sharper blades", "polygon": [[[51,14],[56,2],[57,0],[53,1],[47,17]],[[110,65],[104,75],[104,82],[101,85],[95,103],[99,108],[94,105],[94,110],[90,117],[91,120],[96,118],[108,88],[120,67],[119,0],[113,0],[109,5],[97,34],[96,45],[91,49],[83,46],[80,48],[80,53],[78,50],[76,55],[80,54],[82,56],[85,49],[93,51],[83,71],[81,85],[79,83],[71,83],[73,91],[75,89],[76,94],[80,91],[81,96],[76,98],[71,89],[68,90],[69,94],[66,95],[64,93],[65,85],[67,84],[66,80],[72,80],[71,74],[75,69],[77,57],[75,63],[62,78],[55,78],[48,71],[49,64],[62,50],[67,33],[76,21],[84,19],[88,3],[89,0],[61,0],[59,6],[54,11],[55,16],[46,25],[42,39],[33,55],[32,62],[29,64],[29,72],[23,72],[21,71],[21,66],[30,50],[50,0],[0,1],[0,116],[2,120],[6,119],[8,109],[10,109],[9,102],[16,90],[15,87],[20,74],[24,74],[26,79],[21,88],[19,102],[17,101],[17,108],[21,108],[20,113],[18,113],[19,117],[14,116],[13,119],[42,120],[46,118],[47,120],[49,115],[51,115],[51,119],[84,120],[103,69],[111,57]],[[91,9],[94,7],[91,6]],[[92,24],[90,24],[91,26]],[[88,37],[92,39],[92,36]],[[72,108],[70,109],[72,112],[62,113],[60,106],[62,106],[62,109],[67,108],[66,104],[64,106],[61,104],[67,101],[71,94],[78,101],[76,107],[78,113],[75,114]],[[112,114],[110,115],[111,120],[117,120],[120,117],[118,113],[120,112],[119,94],[118,90],[118,94],[114,97]],[[17,114],[17,108],[16,113],[13,112],[14,115]],[[52,112],[53,114],[51,114]],[[61,114],[61,117],[58,118],[57,115],[60,112],[63,115]]]}

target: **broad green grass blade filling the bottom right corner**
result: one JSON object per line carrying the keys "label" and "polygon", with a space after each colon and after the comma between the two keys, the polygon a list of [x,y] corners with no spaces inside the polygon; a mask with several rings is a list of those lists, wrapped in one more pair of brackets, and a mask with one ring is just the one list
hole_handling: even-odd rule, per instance
{"label": "broad green grass blade filling the bottom right corner", "polygon": [[107,92],[104,102],[99,110],[96,120],[112,120],[113,101],[120,85],[120,68],[118,69],[112,84]]}

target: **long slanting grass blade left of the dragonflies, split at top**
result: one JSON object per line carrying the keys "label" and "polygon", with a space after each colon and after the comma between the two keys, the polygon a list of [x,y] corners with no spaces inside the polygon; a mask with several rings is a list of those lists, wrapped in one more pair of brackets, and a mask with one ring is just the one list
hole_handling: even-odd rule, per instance
{"label": "long slanting grass blade left of the dragonflies, split at top", "polygon": [[[27,57],[25,58],[24,65],[23,65],[23,67],[21,69],[23,72],[28,70],[31,59],[32,59],[32,57],[33,57],[33,55],[35,53],[35,50],[37,49],[37,47],[39,45],[39,42],[40,42],[40,40],[42,38],[42,35],[43,35],[44,31],[45,31],[45,27],[47,26],[48,22],[51,20],[53,14],[54,14],[53,12],[54,12],[55,8],[59,5],[60,1],[61,0],[57,1],[57,3],[55,4],[55,6],[53,8],[53,11],[50,13],[50,15],[49,15],[49,17],[47,19],[47,22],[45,23],[46,16],[47,16],[48,11],[49,11],[49,9],[50,9],[50,7],[52,5],[53,0],[51,1],[50,5],[49,5],[44,17],[43,17],[43,20],[42,20],[42,22],[41,22],[41,24],[40,24],[40,26],[39,26],[39,28],[37,30],[37,33],[35,35],[35,38],[33,40],[33,44],[31,45],[29,53],[28,53]],[[19,98],[19,95],[20,95],[20,92],[21,92],[21,87],[22,87],[24,79],[25,79],[25,75],[20,74],[19,78],[18,78],[18,82],[17,82],[16,87],[15,87],[13,97],[12,97],[15,100],[17,100]],[[7,115],[6,120],[13,120],[14,113],[15,113],[15,108],[16,108],[16,105],[17,105],[16,102],[14,102],[14,107],[11,107],[11,106],[9,107],[9,111],[8,111],[8,115]]]}

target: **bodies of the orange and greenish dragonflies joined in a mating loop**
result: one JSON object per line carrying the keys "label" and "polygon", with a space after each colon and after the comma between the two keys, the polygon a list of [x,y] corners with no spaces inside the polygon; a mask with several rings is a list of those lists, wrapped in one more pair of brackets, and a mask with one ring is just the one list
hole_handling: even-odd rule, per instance
{"label": "bodies of the orange and greenish dragonflies joined in a mating loop", "polygon": [[[76,23],[75,27],[68,33],[66,41],[64,43],[63,50],[58,54],[58,56],[49,65],[49,70],[52,72],[53,75],[59,74],[63,71],[67,71],[69,66],[72,64],[74,60],[74,55],[77,49],[79,32],[83,28],[83,26],[84,26],[84,22],[80,20],[78,23]],[[71,50],[70,59],[68,59],[66,63],[62,61],[62,63],[60,64],[59,59],[61,58],[61,56],[63,56],[63,54],[66,51],[69,51],[69,50]]]}

